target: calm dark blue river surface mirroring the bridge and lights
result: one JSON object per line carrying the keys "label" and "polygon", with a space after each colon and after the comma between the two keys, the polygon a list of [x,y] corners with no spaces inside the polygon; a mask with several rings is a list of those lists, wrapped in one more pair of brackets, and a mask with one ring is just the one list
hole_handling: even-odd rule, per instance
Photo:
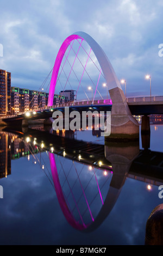
{"label": "calm dark blue river surface mirroring the bridge and lights", "polygon": [[[148,177],[133,165],[143,149],[141,138],[139,147],[135,144],[126,153],[122,145],[118,150],[106,145],[96,132],[63,132],[63,138],[105,145],[108,167],[104,168],[100,159],[93,165],[93,160],[92,164],[83,163],[82,155],[67,158],[66,149],[53,154],[56,136],[49,153],[44,147],[46,137],[42,147],[37,145],[39,131],[35,142],[23,133],[5,130],[0,134],[1,245],[144,244],[147,219],[155,206],[163,203],[158,197],[163,179]],[[151,125],[148,152],[163,153],[162,133],[161,122]],[[124,164],[125,154],[129,160]]]}

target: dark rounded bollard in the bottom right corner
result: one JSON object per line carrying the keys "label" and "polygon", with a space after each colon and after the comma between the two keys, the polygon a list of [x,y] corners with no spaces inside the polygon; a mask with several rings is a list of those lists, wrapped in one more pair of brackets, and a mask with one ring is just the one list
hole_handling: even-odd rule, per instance
{"label": "dark rounded bollard in the bottom right corner", "polygon": [[147,220],[145,245],[163,245],[163,204],[156,206]]}

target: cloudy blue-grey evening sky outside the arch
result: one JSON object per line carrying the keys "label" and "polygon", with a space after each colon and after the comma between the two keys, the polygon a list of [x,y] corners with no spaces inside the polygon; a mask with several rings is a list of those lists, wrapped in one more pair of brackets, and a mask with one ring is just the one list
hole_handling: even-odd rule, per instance
{"label": "cloudy blue-grey evening sky outside the arch", "polygon": [[118,79],[126,79],[127,96],[149,95],[146,74],[152,94],[163,95],[162,10],[161,0],[3,1],[0,68],[11,72],[12,86],[39,89],[62,42],[83,31],[103,48]]}

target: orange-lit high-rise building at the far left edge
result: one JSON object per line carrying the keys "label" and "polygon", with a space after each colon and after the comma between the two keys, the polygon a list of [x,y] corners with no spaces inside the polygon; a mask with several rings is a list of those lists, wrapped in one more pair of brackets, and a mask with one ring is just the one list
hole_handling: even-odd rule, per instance
{"label": "orange-lit high-rise building at the far left edge", "polygon": [[11,113],[11,73],[0,69],[0,115]]}

